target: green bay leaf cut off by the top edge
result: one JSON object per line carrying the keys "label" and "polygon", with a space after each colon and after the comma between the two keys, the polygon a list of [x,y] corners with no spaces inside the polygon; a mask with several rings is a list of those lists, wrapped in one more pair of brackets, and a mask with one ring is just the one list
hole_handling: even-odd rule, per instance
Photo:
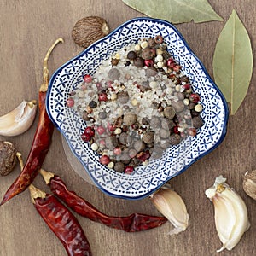
{"label": "green bay leaf cut off by the top edge", "polygon": [[133,9],[152,18],[168,20],[173,24],[205,22],[223,19],[207,0],[122,0]]}

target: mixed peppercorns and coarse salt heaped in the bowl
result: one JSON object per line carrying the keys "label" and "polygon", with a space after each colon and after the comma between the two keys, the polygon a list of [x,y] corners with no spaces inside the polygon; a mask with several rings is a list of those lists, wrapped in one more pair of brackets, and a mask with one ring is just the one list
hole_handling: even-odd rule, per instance
{"label": "mixed peppercorns and coarse salt heaped in the bowl", "polygon": [[133,172],[203,125],[201,97],[161,36],[142,38],[104,61],[70,92],[87,127],[85,143],[116,172]]}

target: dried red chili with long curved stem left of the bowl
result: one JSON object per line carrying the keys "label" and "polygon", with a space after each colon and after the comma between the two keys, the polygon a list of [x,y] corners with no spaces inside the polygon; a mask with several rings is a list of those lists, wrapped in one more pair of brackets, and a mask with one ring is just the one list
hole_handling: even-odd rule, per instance
{"label": "dried red chili with long curved stem left of the bowl", "polygon": [[39,89],[39,119],[37,131],[33,138],[32,147],[27,157],[26,165],[24,166],[22,172],[20,172],[19,177],[15,179],[15,182],[12,183],[12,185],[3,196],[1,205],[3,205],[3,203],[6,201],[9,201],[15,195],[23,192],[32,183],[38,174],[38,170],[43,165],[46,154],[48,153],[52,133],[54,131],[54,125],[49,119],[45,108],[45,97],[49,84],[49,69],[47,67],[47,61],[49,59],[50,53],[55,48],[55,45],[60,42],[63,42],[62,38],[58,38],[55,41],[55,43],[49,48],[47,54],[44,57],[44,82]]}

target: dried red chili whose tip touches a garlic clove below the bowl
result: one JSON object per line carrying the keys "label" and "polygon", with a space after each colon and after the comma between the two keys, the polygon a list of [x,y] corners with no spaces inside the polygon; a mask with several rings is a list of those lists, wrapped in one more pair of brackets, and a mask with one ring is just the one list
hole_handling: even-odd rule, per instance
{"label": "dried red chili whose tip touches a garlic clove below the bowl", "polygon": [[70,207],[74,212],[79,213],[83,217],[105,224],[108,227],[126,232],[136,232],[156,228],[161,224],[165,224],[167,221],[165,217],[140,213],[133,213],[125,217],[109,216],[100,212],[75,192],[69,191],[66,184],[61,180],[61,177],[56,176],[52,172],[46,172],[43,169],[40,170],[40,173],[44,177],[44,181],[49,185],[52,193],[58,196],[61,201],[65,202],[67,207]]}

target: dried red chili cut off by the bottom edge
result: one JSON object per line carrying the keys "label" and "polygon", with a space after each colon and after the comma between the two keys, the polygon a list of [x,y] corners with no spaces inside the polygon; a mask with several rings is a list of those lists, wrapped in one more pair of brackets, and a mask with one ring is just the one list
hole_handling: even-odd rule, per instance
{"label": "dried red chili cut off by the bottom edge", "polygon": [[32,201],[44,222],[64,245],[68,255],[90,256],[90,244],[77,218],[54,195],[29,186]]}

